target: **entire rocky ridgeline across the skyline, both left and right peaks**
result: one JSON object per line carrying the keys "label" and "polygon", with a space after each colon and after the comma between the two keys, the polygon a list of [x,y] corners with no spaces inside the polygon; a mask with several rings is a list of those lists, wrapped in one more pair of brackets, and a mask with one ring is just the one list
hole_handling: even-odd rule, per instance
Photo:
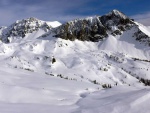
{"label": "entire rocky ridgeline across the skyline, both left and right peaks", "polygon": [[42,38],[53,35],[56,38],[71,41],[78,39],[97,42],[107,38],[108,35],[121,35],[124,31],[133,27],[137,29],[133,37],[137,41],[150,46],[150,37],[139,29],[139,26],[133,19],[130,19],[118,10],[113,10],[103,16],[76,19],[56,28],[36,18],[23,19],[16,21],[9,27],[1,27],[0,39],[5,43],[9,43],[11,42],[9,40],[10,37],[24,38],[28,33],[42,29],[45,31],[45,34],[41,34]]}

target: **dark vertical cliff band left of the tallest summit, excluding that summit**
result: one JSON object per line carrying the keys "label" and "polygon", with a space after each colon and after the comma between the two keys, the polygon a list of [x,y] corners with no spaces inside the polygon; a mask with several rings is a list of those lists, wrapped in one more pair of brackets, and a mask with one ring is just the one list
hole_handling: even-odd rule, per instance
{"label": "dark vertical cliff band left of the tallest summit, excluding that summit", "polygon": [[55,29],[55,33],[56,37],[69,40],[98,41],[107,37],[106,28],[102,25],[100,17],[67,22]]}

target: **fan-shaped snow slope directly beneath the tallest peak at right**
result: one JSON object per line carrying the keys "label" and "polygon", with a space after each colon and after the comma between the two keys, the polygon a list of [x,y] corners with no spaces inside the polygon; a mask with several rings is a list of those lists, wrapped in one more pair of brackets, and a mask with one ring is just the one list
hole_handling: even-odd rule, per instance
{"label": "fan-shaped snow slope directly beneath the tallest peak at right", "polygon": [[[145,26],[140,26],[140,29],[144,32]],[[102,44],[99,45],[99,49],[109,50],[113,52],[121,52],[130,55],[131,57],[138,57],[141,59],[150,59],[149,47],[145,44],[138,42],[133,37],[136,28],[125,31],[119,36],[109,36]],[[145,31],[150,35],[149,31]]]}

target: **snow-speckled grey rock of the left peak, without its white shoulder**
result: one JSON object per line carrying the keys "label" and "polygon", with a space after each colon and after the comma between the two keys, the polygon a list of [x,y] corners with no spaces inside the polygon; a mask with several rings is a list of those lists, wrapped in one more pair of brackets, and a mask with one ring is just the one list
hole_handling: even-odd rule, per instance
{"label": "snow-speckled grey rock of the left peak, without its white shoulder", "polygon": [[51,28],[52,27],[46,22],[31,17],[28,19],[18,20],[11,26],[5,28],[5,30],[1,33],[1,39],[3,42],[9,43],[9,37],[24,38],[28,33],[32,33],[39,29],[43,29],[47,32]]}

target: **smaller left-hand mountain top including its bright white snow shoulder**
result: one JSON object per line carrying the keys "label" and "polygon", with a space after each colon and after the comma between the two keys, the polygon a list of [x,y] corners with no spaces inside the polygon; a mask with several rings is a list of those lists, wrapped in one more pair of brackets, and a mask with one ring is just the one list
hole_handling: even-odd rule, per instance
{"label": "smaller left-hand mountain top including its bright white snow shoulder", "polygon": [[[1,40],[5,43],[15,41],[16,39],[22,39],[28,34],[37,34],[35,37],[41,36],[43,33],[48,32],[51,28],[61,25],[59,22],[45,22],[38,20],[37,18],[27,18],[23,20],[17,20],[9,27],[2,27]],[[37,33],[38,32],[38,33]]]}

